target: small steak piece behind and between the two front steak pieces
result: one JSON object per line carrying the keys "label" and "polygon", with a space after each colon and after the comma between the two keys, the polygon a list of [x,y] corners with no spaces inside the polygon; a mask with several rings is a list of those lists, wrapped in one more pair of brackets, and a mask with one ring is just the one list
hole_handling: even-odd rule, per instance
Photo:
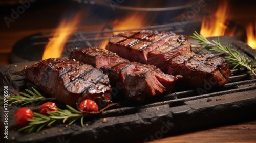
{"label": "small steak piece behind and between the two front steak pieces", "polygon": [[73,49],[70,52],[69,58],[90,64],[96,68],[114,62],[128,62],[128,60],[119,57],[117,54],[99,47]]}

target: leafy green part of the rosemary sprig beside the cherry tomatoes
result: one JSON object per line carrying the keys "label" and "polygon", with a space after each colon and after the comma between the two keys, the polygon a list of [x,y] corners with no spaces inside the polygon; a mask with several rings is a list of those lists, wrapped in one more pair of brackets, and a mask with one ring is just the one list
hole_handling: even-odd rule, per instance
{"label": "leafy green part of the rosemary sprig beside the cherry tomatoes", "polygon": [[75,121],[80,119],[81,126],[84,127],[83,118],[86,114],[80,112],[69,105],[66,105],[68,109],[62,110],[57,108],[56,112],[47,112],[49,116],[39,114],[34,112],[34,117],[28,119],[30,121],[29,125],[20,128],[19,132],[31,133],[39,132],[42,128],[48,126],[50,127],[53,123],[57,121],[62,121],[62,123],[68,122],[68,125],[73,124]]}

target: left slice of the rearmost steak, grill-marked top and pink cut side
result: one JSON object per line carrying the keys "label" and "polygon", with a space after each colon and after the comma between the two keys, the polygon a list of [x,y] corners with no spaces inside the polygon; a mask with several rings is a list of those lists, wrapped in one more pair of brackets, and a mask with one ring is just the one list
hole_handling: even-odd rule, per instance
{"label": "left slice of the rearmost steak, grill-marked top and pink cut side", "polygon": [[162,46],[173,35],[172,32],[159,33],[154,30],[125,31],[114,35],[106,49],[129,61],[147,63],[147,53]]}

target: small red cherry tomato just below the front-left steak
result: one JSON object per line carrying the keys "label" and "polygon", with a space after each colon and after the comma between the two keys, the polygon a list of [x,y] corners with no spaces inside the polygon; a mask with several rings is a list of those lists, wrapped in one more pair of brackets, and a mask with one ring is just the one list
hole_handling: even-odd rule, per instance
{"label": "small red cherry tomato just below the front-left steak", "polygon": [[97,112],[99,110],[99,107],[95,103],[95,101],[86,99],[80,103],[79,109],[86,112]]}

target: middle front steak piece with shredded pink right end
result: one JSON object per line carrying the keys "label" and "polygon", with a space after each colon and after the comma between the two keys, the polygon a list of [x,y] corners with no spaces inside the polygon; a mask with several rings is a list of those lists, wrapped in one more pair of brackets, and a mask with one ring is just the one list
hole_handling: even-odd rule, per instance
{"label": "middle front steak piece with shredded pink right end", "polygon": [[108,74],[111,85],[121,84],[119,87],[122,87],[124,96],[136,102],[169,93],[176,81],[181,78],[164,74],[155,66],[136,62],[112,63],[100,69]]}

